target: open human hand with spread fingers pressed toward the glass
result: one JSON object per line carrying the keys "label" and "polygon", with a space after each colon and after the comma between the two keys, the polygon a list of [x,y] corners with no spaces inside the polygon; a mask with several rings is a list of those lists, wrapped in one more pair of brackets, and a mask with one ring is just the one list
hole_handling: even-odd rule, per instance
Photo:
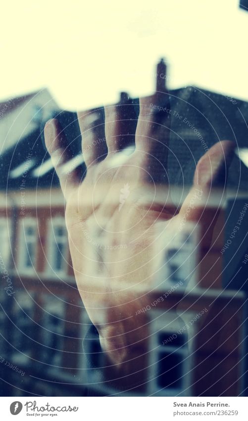
{"label": "open human hand with spread fingers pressed toward the glass", "polygon": [[[211,241],[217,215],[209,216],[206,203],[232,157],[232,142],[215,144],[199,160],[182,207],[173,208],[166,172],[168,109],[164,89],[140,99],[138,119],[124,94],[119,104],[105,107],[105,120],[99,110],[79,113],[87,165],[83,181],[78,169],[69,175],[63,172],[72,156],[58,122],[50,120],[45,127],[46,145],[66,199],[78,290],[102,349],[117,366],[142,353],[147,323],[137,310],[150,304],[161,253],[184,231],[186,212],[187,222],[203,226],[199,244],[202,239]],[[197,198],[196,189],[202,192]]]}

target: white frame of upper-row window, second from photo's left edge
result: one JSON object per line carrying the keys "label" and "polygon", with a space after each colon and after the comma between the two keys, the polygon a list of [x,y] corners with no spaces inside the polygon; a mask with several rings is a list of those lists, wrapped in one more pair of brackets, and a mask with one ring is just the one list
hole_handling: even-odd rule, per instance
{"label": "white frame of upper-row window, second from photo's left edge", "polygon": [[[34,247],[34,262],[32,266],[25,265],[26,253],[27,253],[27,237],[25,235],[26,228],[34,228],[33,235],[33,247]],[[31,236],[28,236],[31,237]],[[18,259],[18,270],[24,275],[34,275],[36,273],[37,264],[37,251],[38,251],[38,220],[37,218],[28,217],[21,218],[19,220],[19,235],[18,235],[18,247],[19,247],[19,259]]]}

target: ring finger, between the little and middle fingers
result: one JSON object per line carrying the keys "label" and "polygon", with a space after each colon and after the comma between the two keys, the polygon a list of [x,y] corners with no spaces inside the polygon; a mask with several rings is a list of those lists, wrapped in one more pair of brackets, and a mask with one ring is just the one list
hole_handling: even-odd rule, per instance
{"label": "ring finger, between the little and middle fingers", "polygon": [[103,109],[79,112],[78,122],[82,134],[83,156],[89,167],[104,159],[107,154]]}

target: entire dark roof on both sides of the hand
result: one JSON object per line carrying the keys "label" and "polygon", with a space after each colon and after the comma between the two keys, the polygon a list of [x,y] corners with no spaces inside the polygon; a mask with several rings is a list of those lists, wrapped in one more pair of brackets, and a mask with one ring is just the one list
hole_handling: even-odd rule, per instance
{"label": "entire dark roof on both sides of the hand", "polygon": [[[27,98],[27,97],[26,97]],[[136,101],[137,102],[137,101]],[[223,95],[186,87],[170,91],[171,136],[169,162],[169,180],[176,184],[190,184],[193,180],[196,162],[214,143],[219,140],[234,140],[240,148],[248,147],[248,103],[230,99]],[[181,117],[179,117],[181,116]],[[80,153],[81,135],[75,113],[58,112],[57,116],[68,138],[73,156]],[[13,177],[12,170],[24,166],[26,157],[31,154],[33,161],[27,165],[26,188],[58,185],[54,170],[34,174],[34,169],[47,163],[49,155],[44,144],[42,123],[40,130],[35,130],[0,157],[0,188],[19,188],[22,173]],[[199,137],[201,136],[201,137]],[[83,168],[85,171],[85,167]],[[229,171],[229,186],[246,189],[248,168],[235,157]]]}

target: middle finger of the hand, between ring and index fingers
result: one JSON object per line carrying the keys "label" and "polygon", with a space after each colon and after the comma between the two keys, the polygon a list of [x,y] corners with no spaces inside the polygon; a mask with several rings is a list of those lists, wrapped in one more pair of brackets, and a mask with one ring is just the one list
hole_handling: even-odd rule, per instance
{"label": "middle finger of the hand, between ring and index fingers", "polygon": [[105,133],[108,153],[135,147],[137,115],[133,101],[125,92],[116,105],[105,107]]}

